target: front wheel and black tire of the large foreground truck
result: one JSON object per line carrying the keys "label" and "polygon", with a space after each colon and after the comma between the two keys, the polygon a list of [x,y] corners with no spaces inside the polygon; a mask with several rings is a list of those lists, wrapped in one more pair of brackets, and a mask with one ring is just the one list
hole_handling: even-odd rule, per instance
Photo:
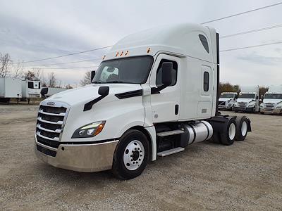
{"label": "front wheel and black tire of the large foreground truck", "polygon": [[112,172],[119,179],[139,176],[149,161],[149,141],[136,129],[125,132],[118,141],[114,153]]}

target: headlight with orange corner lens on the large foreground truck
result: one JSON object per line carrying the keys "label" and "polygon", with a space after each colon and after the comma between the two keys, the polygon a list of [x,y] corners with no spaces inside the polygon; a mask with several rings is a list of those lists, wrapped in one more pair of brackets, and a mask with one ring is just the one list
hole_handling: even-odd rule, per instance
{"label": "headlight with orange corner lens on the large foreground truck", "polygon": [[75,130],[73,133],[73,136],[71,136],[72,139],[78,139],[78,138],[89,138],[96,136],[100,132],[102,132],[102,129],[104,128],[106,121],[101,122],[93,122],[91,124],[86,124],[83,127],[80,127],[79,129]]}

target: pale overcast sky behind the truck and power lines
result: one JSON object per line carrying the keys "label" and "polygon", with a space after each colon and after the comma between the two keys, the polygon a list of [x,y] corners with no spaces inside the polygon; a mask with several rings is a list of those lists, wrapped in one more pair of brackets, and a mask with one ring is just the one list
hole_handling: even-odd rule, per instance
{"label": "pale overcast sky behind the truck and power lines", "polygon": [[[127,34],[171,23],[202,23],[279,1],[13,1],[0,0],[0,53],[11,59],[37,60],[115,44]],[[207,25],[221,36],[282,24],[282,5]],[[282,27],[221,39],[221,50],[282,41]],[[25,65],[102,58],[106,50]],[[282,44],[221,53],[221,82],[282,84]],[[83,62],[45,68],[88,67]],[[31,67],[30,67],[31,68]],[[41,66],[44,69],[43,66]],[[27,68],[26,68],[27,69]],[[79,84],[87,70],[50,70],[63,84]]]}

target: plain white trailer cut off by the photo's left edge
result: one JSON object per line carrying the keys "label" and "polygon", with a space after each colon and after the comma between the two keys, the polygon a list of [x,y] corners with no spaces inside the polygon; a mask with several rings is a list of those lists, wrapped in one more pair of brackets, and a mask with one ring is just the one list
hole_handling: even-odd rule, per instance
{"label": "plain white trailer cut off by the photo's left edge", "polygon": [[0,78],[0,101],[9,102],[11,98],[21,98],[22,87],[20,79],[10,77]]}

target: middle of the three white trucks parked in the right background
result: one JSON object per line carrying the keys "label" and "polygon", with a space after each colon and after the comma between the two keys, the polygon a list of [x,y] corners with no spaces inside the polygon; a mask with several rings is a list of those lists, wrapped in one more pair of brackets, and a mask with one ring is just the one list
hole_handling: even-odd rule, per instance
{"label": "middle of the three white trucks parked in the right background", "polygon": [[259,112],[259,86],[242,86],[237,102],[234,103],[235,112]]}

